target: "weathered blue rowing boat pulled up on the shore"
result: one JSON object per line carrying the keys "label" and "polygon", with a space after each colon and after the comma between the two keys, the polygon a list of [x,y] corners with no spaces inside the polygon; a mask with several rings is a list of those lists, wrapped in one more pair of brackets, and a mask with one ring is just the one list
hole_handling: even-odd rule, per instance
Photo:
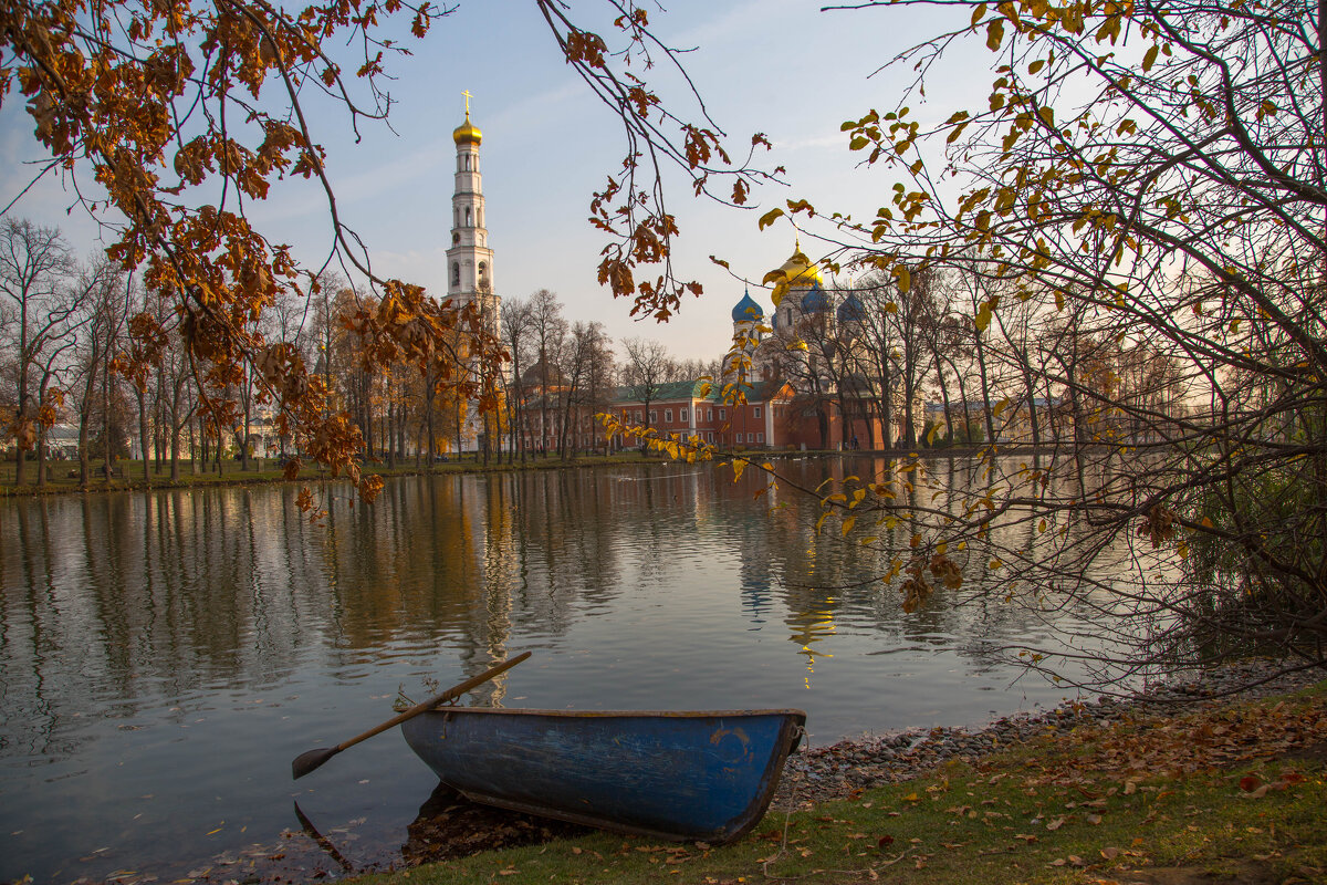
{"label": "weathered blue rowing boat pulled up on the shore", "polygon": [[764,815],[805,720],[800,710],[441,707],[401,730],[445,784],[475,801],[718,844]]}

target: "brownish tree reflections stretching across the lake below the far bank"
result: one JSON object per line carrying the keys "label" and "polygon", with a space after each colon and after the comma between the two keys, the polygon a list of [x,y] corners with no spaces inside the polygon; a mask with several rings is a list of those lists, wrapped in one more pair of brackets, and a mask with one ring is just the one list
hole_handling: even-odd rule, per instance
{"label": "brownish tree reflections stretching across the lake below the far bank", "polygon": [[[811,488],[828,470],[892,483],[913,507],[958,508],[993,483],[1027,482],[1040,462],[994,474],[965,459],[928,464],[908,476],[864,456],[783,467]],[[1082,476],[1100,488],[1108,476],[1097,472]],[[715,581],[722,593],[733,582],[744,622],[786,628],[811,667],[845,644],[845,629],[914,647],[957,638],[985,667],[993,649],[1048,636],[1050,625],[1085,641],[1076,632],[1107,613],[1091,593],[1059,612],[1043,610],[1038,588],[989,596],[986,552],[974,547],[969,582],[905,617],[896,585],[880,577],[912,556],[913,525],[877,525],[867,545],[860,528],[844,539],[827,523],[817,535],[815,500],[786,490],[758,498],[764,482],[694,466],[422,476],[393,480],[370,508],[333,495],[317,525],[285,487],[7,504],[0,748],[68,752],[86,731],[61,711],[130,716],[214,686],[279,683],[311,657],[336,677],[384,654],[455,655],[478,673],[514,637],[565,634],[587,608],[637,588]],[[990,543],[1055,563],[1082,541],[1022,521],[993,527]],[[1091,588],[1107,576],[1062,580]],[[488,691],[483,702],[500,701],[500,686]]]}

